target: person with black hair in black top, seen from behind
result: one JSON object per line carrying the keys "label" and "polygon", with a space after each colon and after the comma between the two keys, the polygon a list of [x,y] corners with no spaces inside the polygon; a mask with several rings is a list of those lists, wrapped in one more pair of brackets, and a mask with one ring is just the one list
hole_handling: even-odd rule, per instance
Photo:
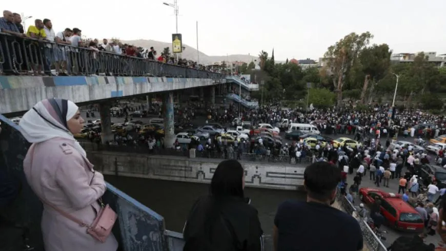
{"label": "person with black hair in black top, seen from behind", "polygon": [[257,210],[245,198],[245,171],[237,160],[215,170],[210,194],[199,198],[187,218],[184,251],[262,251]]}

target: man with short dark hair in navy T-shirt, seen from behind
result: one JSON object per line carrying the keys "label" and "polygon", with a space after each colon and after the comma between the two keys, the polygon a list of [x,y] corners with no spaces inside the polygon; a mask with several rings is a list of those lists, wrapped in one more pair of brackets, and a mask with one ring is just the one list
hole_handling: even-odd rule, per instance
{"label": "man with short dark hair in navy T-shirt, seen from behind", "polygon": [[332,207],[340,170],[315,162],[303,174],[307,201],[285,201],[274,219],[275,251],[357,251],[363,240],[359,223]]}

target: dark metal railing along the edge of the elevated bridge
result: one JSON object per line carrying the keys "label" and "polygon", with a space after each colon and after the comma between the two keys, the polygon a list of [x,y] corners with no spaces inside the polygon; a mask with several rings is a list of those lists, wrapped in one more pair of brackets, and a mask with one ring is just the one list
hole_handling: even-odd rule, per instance
{"label": "dark metal railing along the edge of the elevated bridge", "polygon": [[[42,69],[43,68],[43,69]],[[0,32],[0,73],[7,75],[166,76],[222,79],[225,75],[156,60],[73,47]]]}

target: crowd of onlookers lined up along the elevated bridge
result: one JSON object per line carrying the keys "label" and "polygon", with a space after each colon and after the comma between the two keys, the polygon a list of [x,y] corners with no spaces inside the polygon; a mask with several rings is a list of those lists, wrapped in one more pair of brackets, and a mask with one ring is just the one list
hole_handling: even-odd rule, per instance
{"label": "crowd of onlookers lined up along the elevated bridge", "polygon": [[[145,49],[123,44],[119,40],[109,41],[106,38],[102,40],[102,43],[99,43],[97,38],[85,39],[82,36],[82,30],[79,28],[66,28],[61,31],[55,31],[49,18],[35,19],[34,24],[29,26],[27,30],[25,29],[26,27],[22,25],[22,16],[20,14],[9,10],[3,11],[3,17],[0,17],[0,31],[15,37],[15,39],[5,37],[4,41],[7,43],[1,44],[5,58],[0,70],[2,70],[1,72],[4,75],[29,74],[27,69],[30,69],[33,75],[45,74],[52,76],[57,74],[66,76],[85,74],[86,72],[99,74],[97,53],[100,51],[156,60],[204,71],[219,72],[221,70],[211,66],[199,65],[196,61],[186,58],[174,57],[165,52],[157,53],[153,47]],[[12,50],[12,41],[17,40],[18,37],[36,39],[34,41],[24,40],[24,43],[31,48],[31,52],[27,52],[27,55],[22,49],[19,49],[21,47],[16,48],[18,51]],[[50,45],[48,42],[55,44]],[[79,50],[76,48],[89,49],[90,53],[88,53],[88,56],[91,57],[92,63],[91,69],[88,69],[88,71],[85,69],[84,62],[80,61],[85,55],[79,56]],[[52,69],[55,72],[51,71]]]}

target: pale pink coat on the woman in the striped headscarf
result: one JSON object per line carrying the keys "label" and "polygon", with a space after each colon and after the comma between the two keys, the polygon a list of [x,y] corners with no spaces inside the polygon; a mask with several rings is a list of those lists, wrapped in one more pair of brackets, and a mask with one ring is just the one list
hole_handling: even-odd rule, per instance
{"label": "pale pink coat on the woman in the striped headscarf", "polygon": [[[104,176],[93,170],[93,165],[73,147],[71,140],[53,138],[34,143],[25,157],[23,169],[40,200],[84,222],[93,222],[95,210],[100,208],[96,200],[106,191]],[[87,234],[86,227],[65,218],[45,203],[41,226],[46,251],[114,251],[118,246],[113,234],[101,243]]]}

